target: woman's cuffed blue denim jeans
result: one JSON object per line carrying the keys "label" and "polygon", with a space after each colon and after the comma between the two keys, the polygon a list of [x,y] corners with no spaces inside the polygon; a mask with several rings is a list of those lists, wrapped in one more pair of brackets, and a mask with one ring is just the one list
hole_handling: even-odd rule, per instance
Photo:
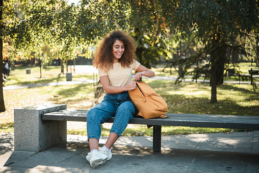
{"label": "woman's cuffed blue denim jeans", "polygon": [[123,94],[106,94],[103,101],[87,113],[87,136],[88,140],[101,136],[101,123],[105,123],[111,117],[115,117],[110,132],[119,137],[126,129],[128,121],[137,114],[137,109],[131,101],[128,92]]}

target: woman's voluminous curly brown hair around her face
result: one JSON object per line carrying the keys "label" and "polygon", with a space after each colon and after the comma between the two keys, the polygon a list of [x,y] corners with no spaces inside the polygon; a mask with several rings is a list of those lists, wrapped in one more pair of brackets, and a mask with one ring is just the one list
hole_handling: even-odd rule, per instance
{"label": "woman's voluminous curly brown hair around her face", "polygon": [[124,52],[119,59],[122,67],[130,67],[130,65],[136,60],[136,46],[134,39],[123,31],[115,30],[106,35],[100,42],[93,59],[93,65],[104,70],[113,68],[114,55],[113,44],[116,40],[123,42]]}

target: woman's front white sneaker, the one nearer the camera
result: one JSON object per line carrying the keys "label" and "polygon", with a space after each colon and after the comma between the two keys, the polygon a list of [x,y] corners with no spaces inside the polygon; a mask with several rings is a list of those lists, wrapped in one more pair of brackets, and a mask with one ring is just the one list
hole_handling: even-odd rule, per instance
{"label": "woman's front white sneaker, the one nearer the camera", "polygon": [[93,168],[96,168],[97,166],[106,162],[108,159],[108,156],[100,153],[99,151],[92,151],[92,153],[88,153],[86,156],[86,160],[90,162],[90,165]]}

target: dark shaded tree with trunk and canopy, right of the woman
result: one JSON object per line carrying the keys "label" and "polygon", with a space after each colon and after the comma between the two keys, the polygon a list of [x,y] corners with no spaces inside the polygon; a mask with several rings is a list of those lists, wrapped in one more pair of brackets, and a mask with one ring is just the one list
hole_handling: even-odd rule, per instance
{"label": "dark shaded tree with trunk and canopy, right of the woman", "polygon": [[[184,61],[189,64],[193,59],[210,55],[210,64],[193,71],[207,73],[210,70],[211,103],[217,103],[217,85],[223,83],[224,65],[228,63],[227,47],[246,33],[258,28],[257,1],[172,1],[163,10],[170,32],[179,31],[183,36],[195,32],[203,42],[198,54]],[[179,62],[172,61],[177,64]]]}

